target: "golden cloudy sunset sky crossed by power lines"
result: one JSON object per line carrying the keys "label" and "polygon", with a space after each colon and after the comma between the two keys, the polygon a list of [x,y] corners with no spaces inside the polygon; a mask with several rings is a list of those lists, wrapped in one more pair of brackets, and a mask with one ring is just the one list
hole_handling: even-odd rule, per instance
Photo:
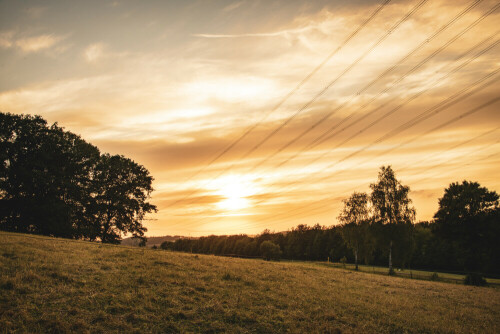
{"label": "golden cloudy sunset sky crossed by power lines", "polygon": [[500,191],[495,1],[0,0],[0,111],[154,176],[146,235],[338,224],[391,165]]}

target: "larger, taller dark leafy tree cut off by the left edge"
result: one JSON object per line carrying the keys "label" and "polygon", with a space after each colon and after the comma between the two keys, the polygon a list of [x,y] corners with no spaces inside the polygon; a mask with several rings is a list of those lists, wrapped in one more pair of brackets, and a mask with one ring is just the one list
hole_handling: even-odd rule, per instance
{"label": "larger, taller dark leafy tree cut off by the left edge", "polygon": [[39,116],[0,113],[0,228],[75,237],[99,150]]}

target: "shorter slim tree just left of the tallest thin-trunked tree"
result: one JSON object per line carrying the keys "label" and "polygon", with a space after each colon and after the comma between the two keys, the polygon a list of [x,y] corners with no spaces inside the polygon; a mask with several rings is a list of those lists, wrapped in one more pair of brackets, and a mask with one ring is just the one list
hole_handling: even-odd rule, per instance
{"label": "shorter slim tree just left of the tallest thin-trunked tree", "polygon": [[343,200],[344,207],[338,217],[343,223],[342,237],[354,252],[354,263],[358,270],[358,254],[361,247],[367,243],[367,224],[370,215],[368,195],[354,192],[351,197]]}

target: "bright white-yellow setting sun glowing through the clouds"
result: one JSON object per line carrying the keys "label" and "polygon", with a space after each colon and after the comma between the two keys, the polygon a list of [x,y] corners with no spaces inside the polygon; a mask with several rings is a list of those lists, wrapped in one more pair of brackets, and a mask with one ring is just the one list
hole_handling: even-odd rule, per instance
{"label": "bright white-yellow setting sun glowing through the clouds", "polygon": [[257,188],[250,177],[229,175],[214,180],[215,193],[223,199],[217,202],[217,207],[225,211],[238,211],[252,205],[248,198],[257,193]]}

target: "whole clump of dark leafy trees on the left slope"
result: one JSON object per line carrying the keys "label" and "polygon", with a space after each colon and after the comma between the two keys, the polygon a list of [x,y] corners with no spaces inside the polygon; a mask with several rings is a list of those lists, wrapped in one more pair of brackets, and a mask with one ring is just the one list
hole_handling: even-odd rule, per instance
{"label": "whole clump of dark leafy trees on the left slope", "polygon": [[101,154],[80,136],[40,116],[0,113],[0,229],[118,243],[145,240],[156,211],[149,171]]}

